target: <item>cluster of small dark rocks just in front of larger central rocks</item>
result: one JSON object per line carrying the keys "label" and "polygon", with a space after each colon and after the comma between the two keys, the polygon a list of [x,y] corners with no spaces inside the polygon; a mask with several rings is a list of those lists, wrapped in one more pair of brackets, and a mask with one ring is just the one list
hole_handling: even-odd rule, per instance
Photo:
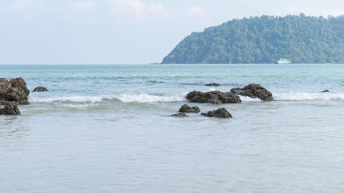
{"label": "cluster of small dark rocks just in front of larger central rocks", "polygon": [[[200,108],[198,106],[189,106],[187,104],[184,104],[183,106],[180,107],[179,109],[180,113],[173,114],[172,116],[175,117],[188,117],[186,113],[200,113]],[[201,115],[207,116],[207,117],[221,117],[221,118],[230,118],[232,115],[224,109],[217,109],[215,111],[208,111],[208,113],[201,113]]]}

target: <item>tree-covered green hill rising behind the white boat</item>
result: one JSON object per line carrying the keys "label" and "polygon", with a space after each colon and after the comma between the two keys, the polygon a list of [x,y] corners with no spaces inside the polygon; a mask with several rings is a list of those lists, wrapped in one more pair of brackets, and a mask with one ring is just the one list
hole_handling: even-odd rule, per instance
{"label": "tree-covered green hill rising behind the white boat", "polygon": [[344,16],[233,19],[182,40],[162,63],[344,63]]}

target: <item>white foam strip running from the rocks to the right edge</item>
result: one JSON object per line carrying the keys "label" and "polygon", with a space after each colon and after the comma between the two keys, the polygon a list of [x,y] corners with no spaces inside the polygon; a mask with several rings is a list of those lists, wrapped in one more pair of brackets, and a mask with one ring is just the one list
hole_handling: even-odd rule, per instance
{"label": "white foam strip running from the rocks to the right edge", "polygon": [[297,101],[297,100],[336,100],[344,99],[344,93],[273,93],[275,100]]}

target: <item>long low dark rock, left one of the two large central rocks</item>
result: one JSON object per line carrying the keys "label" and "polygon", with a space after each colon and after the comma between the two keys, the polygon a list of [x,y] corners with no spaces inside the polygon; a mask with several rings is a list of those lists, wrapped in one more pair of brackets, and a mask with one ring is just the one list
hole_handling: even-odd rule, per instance
{"label": "long low dark rock, left one of the two large central rocks", "polygon": [[210,91],[207,93],[202,93],[201,91],[192,91],[187,94],[185,98],[191,102],[199,103],[241,103],[241,100],[237,95],[229,92],[223,93],[221,91]]}

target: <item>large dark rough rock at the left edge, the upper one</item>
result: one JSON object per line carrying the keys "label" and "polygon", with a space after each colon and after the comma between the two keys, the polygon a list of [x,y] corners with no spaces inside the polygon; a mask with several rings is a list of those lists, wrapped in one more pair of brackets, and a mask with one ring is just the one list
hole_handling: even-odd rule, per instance
{"label": "large dark rough rock at the left edge, the upper one", "polygon": [[15,78],[10,81],[0,78],[0,105],[12,103],[14,105],[29,104],[29,89],[23,78]]}

